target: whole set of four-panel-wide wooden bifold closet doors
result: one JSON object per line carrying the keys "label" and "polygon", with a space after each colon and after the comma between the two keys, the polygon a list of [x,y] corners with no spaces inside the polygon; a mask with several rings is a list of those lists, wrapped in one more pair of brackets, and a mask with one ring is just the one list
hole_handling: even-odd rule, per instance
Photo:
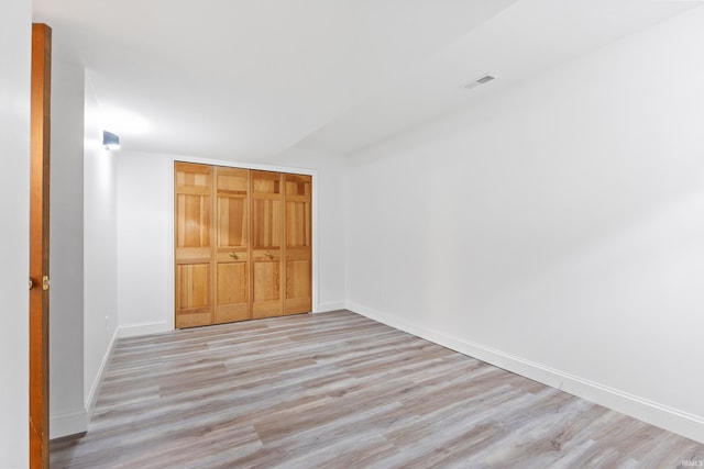
{"label": "whole set of four-panel-wide wooden bifold closet doors", "polygon": [[175,324],[311,311],[310,176],[174,164]]}

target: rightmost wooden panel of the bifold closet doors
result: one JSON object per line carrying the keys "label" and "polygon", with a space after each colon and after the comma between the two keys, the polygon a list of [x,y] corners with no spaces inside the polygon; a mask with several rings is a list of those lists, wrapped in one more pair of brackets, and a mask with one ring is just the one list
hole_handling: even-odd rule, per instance
{"label": "rightmost wooden panel of the bifold closet doors", "polygon": [[312,305],[312,178],[284,175],[285,299],[284,314],[311,311]]}

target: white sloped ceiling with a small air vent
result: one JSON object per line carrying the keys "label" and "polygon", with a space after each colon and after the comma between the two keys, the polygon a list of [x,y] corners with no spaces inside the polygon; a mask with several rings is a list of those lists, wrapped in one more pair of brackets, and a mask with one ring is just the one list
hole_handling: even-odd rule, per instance
{"label": "white sloped ceiling with a small air vent", "polygon": [[55,59],[85,65],[125,149],[253,160],[354,153],[695,5],[34,0],[34,21]]}

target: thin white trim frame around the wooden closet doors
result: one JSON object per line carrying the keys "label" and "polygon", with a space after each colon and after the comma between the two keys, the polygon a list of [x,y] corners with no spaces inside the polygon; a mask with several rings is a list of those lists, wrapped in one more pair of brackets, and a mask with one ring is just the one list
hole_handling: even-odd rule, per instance
{"label": "thin white trim frame around the wooden closet doors", "polygon": [[[175,236],[175,231],[174,231],[174,219],[175,219],[175,214],[174,214],[174,203],[175,203],[175,199],[174,199],[174,193],[175,193],[175,170],[174,170],[174,163],[177,161],[182,161],[182,163],[195,163],[195,164],[199,164],[199,165],[213,165],[213,166],[224,166],[224,167],[229,167],[229,168],[242,168],[242,169],[253,169],[253,170],[261,170],[261,171],[274,171],[274,172],[290,172],[290,174],[298,174],[298,175],[306,175],[306,176],[310,176],[312,177],[312,216],[311,216],[311,223],[312,223],[312,252],[311,252],[311,275],[312,275],[312,304],[311,304],[311,310],[312,313],[318,313],[320,312],[320,265],[318,259],[319,257],[319,249],[320,249],[320,236],[319,236],[319,197],[318,197],[318,191],[319,191],[319,177],[318,177],[318,170],[317,169],[310,169],[310,168],[298,168],[298,167],[287,167],[287,166],[275,166],[275,165],[252,165],[252,164],[248,164],[248,163],[237,163],[237,161],[227,161],[227,160],[221,160],[221,159],[210,159],[210,158],[190,158],[190,157],[172,157],[169,158],[169,177],[168,177],[168,239],[167,242],[169,243],[168,249],[169,249],[169,265],[168,265],[168,277],[167,277],[167,282],[168,282],[168,291],[172,292],[172,294],[169,294],[168,297],[168,301],[170,302],[168,304],[168,320],[167,320],[167,327],[169,331],[174,331],[176,328],[176,319],[175,319],[175,308],[176,308],[176,303],[175,303],[175,298],[174,298],[174,292],[176,291],[176,283],[175,283],[175,266],[176,266],[176,256],[175,256],[175,242],[174,242],[174,236]],[[155,328],[150,328],[150,332],[154,332],[156,331]],[[163,331],[163,330],[160,330]]]}

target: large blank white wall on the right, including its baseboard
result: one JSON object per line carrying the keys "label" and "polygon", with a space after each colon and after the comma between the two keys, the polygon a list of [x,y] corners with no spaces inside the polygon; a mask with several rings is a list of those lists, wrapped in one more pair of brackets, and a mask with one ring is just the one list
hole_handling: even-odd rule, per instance
{"label": "large blank white wall on the right, including its baseboard", "polygon": [[702,24],[356,156],[348,306],[704,442]]}

